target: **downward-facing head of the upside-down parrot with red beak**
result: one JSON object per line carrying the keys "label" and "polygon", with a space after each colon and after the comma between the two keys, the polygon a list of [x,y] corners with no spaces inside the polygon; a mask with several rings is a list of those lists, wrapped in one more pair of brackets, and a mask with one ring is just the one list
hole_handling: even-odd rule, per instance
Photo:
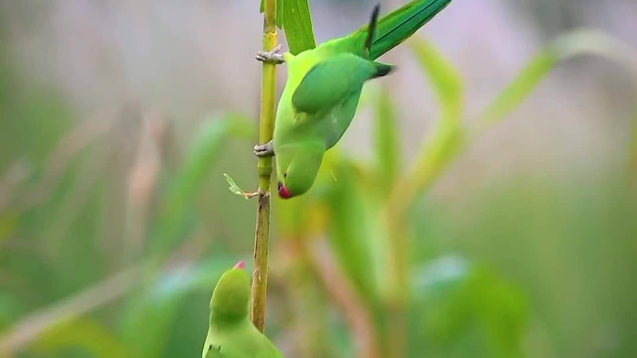
{"label": "downward-facing head of the upside-down parrot with red beak", "polygon": [[324,153],[324,148],[302,144],[279,148],[276,151],[279,196],[289,199],[310,190]]}

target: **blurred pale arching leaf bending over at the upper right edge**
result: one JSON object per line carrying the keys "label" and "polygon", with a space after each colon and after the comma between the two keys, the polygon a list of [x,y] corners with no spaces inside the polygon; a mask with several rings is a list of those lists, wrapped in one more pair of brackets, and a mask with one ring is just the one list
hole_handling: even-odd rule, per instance
{"label": "blurred pale arching leaf bending over at the upper right edge", "polygon": [[574,31],[550,41],[522,68],[483,111],[478,129],[498,122],[517,108],[555,64],[583,54],[598,55],[625,65],[637,83],[637,54],[629,45],[601,32]]}

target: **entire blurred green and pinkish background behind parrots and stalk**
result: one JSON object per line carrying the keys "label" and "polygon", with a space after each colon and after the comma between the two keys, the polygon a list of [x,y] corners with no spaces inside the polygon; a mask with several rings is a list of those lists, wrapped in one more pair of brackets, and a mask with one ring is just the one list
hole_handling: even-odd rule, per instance
{"label": "entire blurred green and pinkish background behind parrots and stalk", "polygon": [[[310,1],[317,43],[373,4]],[[256,0],[0,1],[0,357],[201,354],[220,273],[252,262],[255,200],[222,173],[256,189],[262,23]],[[313,189],[273,200],[286,357],[637,356],[634,68],[601,51],[503,92],[582,27],[634,54],[637,3],[454,0],[382,58]]]}

